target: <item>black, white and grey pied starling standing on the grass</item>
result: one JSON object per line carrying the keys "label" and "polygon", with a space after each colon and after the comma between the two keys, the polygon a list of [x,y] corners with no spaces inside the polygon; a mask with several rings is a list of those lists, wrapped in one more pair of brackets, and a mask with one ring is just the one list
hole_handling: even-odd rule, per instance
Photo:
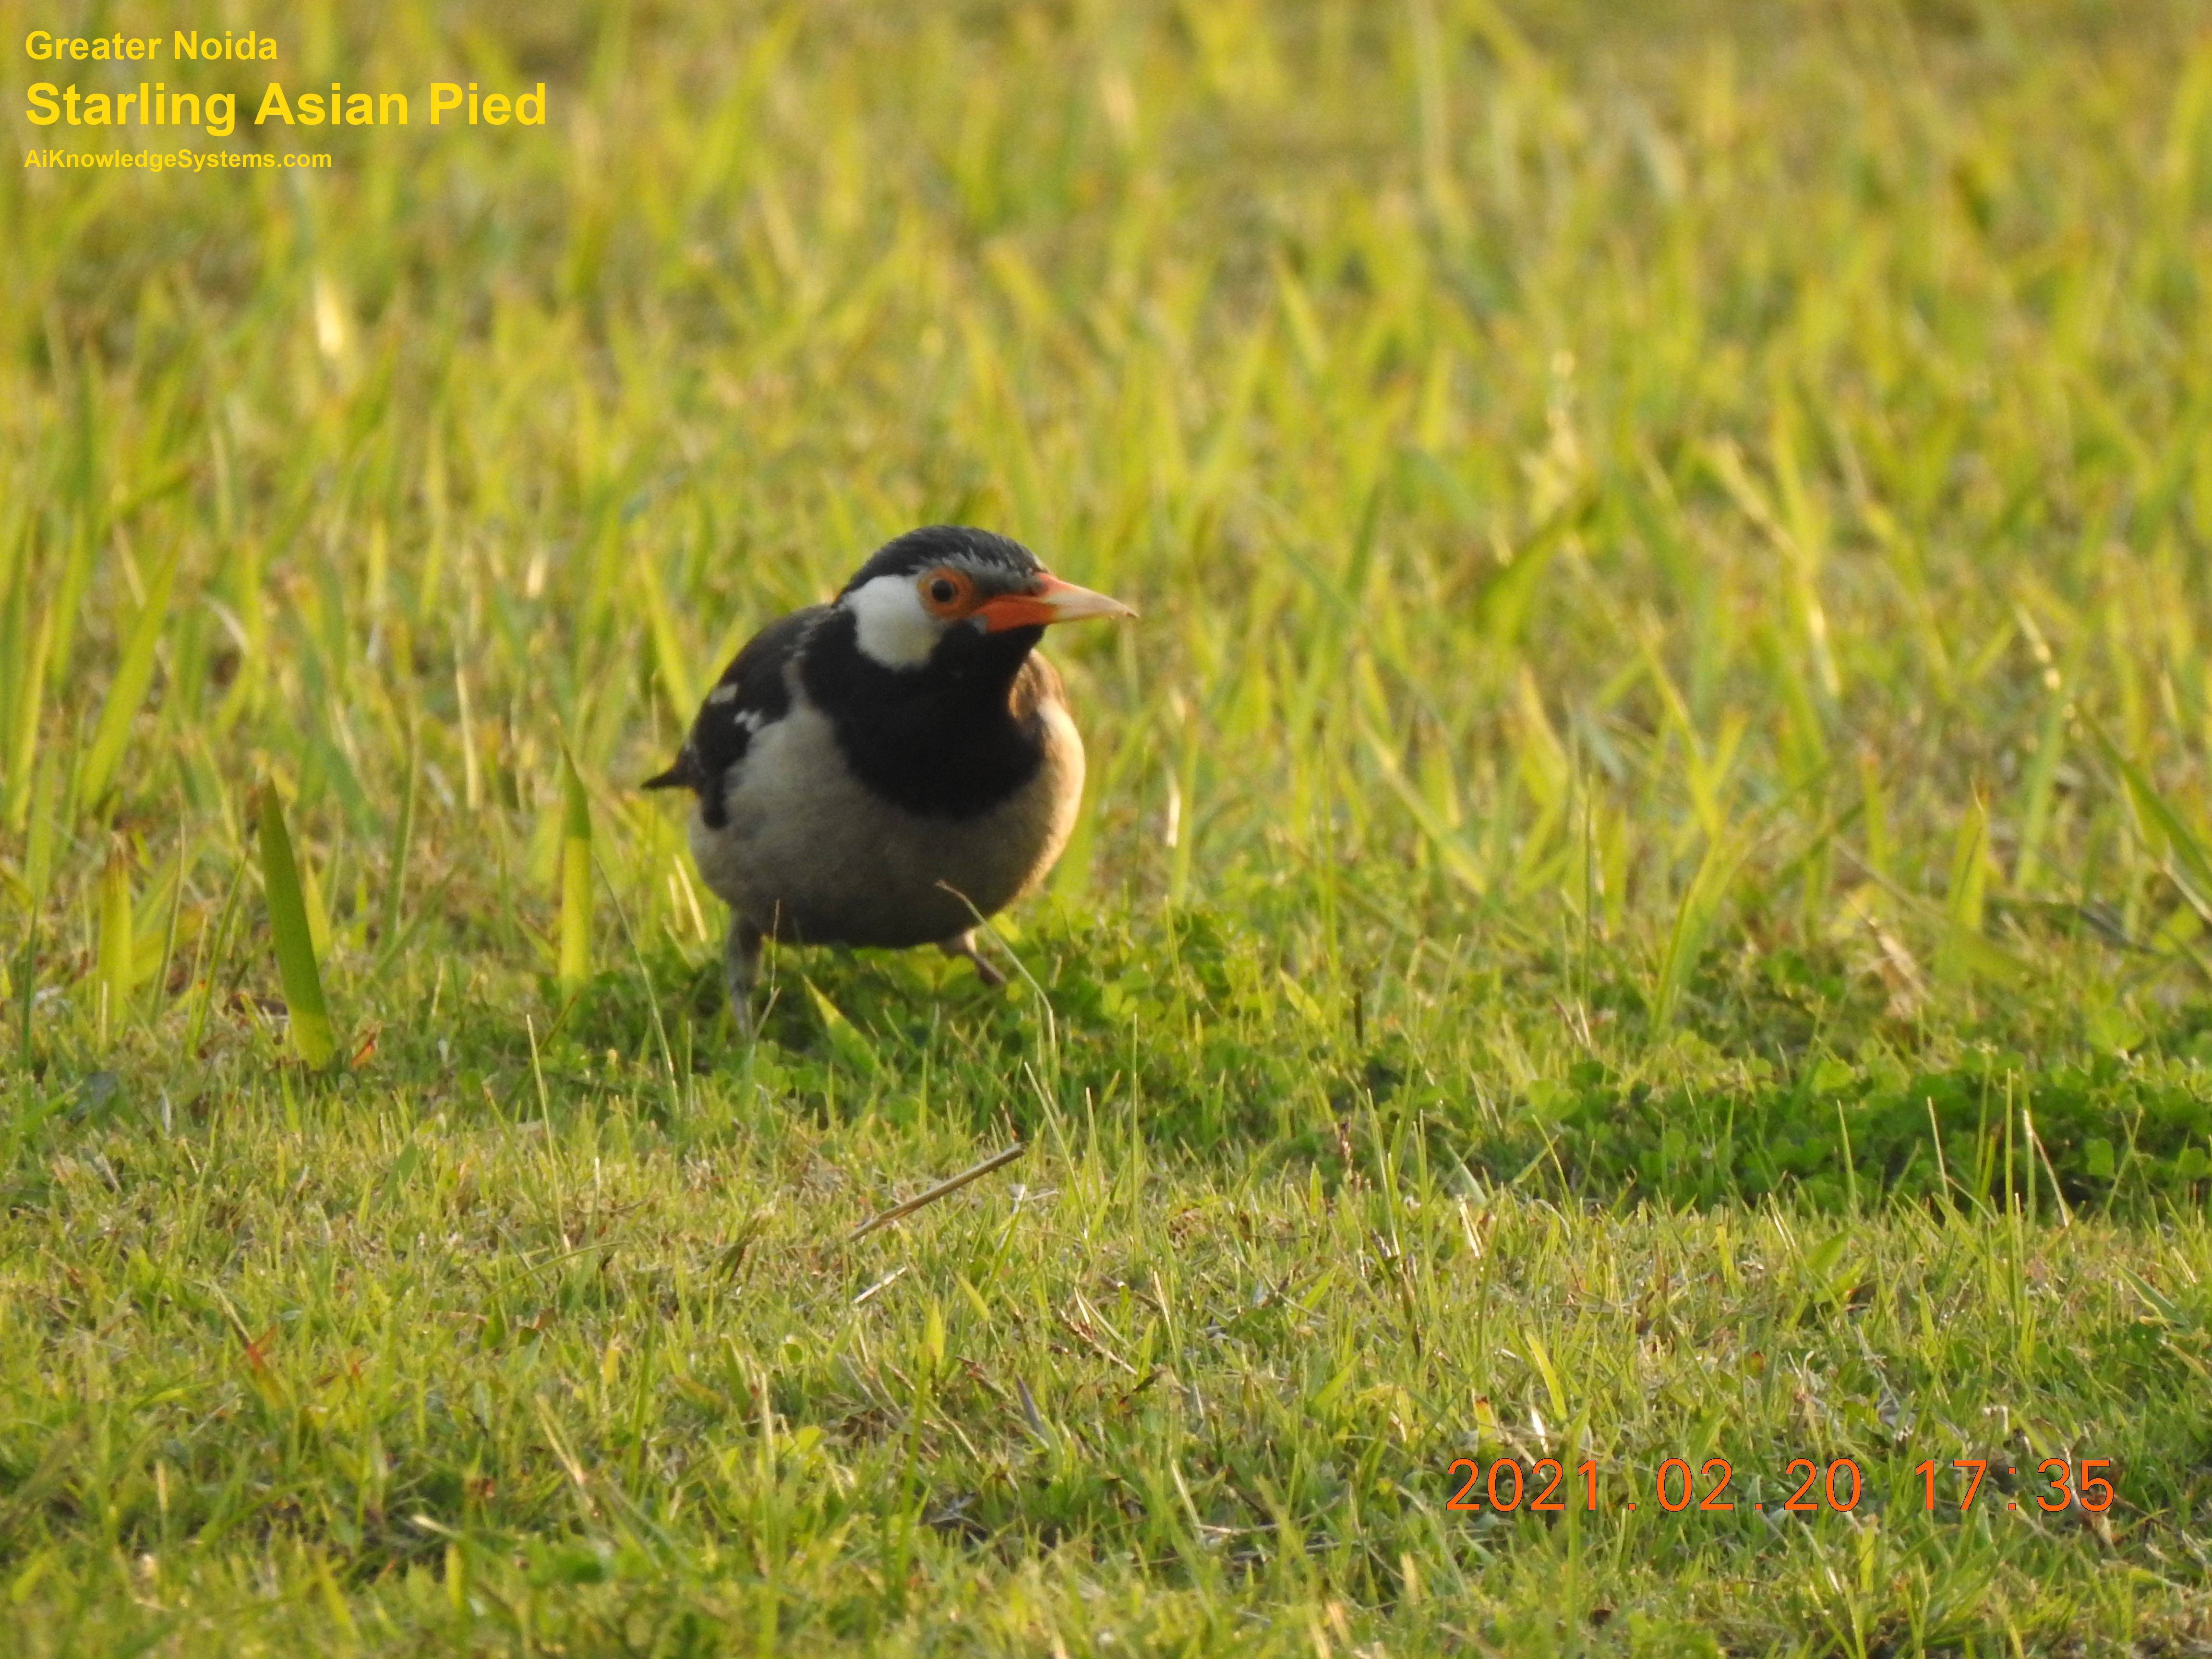
{"label": "black, white and grey pied starling standing on the grass", "polygon": [[739,1033],[765,940],[936,945],[1006,982],[975,922],[1044,880],[1084,792],[1084,743],[1037,641],[1135,615],[1006,535],[929,524],[737,653],[675,765],[641,787],[697,796],[690,852],[730,905]]}

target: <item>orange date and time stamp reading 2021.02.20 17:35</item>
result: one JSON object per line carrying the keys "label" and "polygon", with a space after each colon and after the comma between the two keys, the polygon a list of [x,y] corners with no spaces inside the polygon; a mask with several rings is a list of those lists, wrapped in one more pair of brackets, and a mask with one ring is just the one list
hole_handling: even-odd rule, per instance
{"label": "orange date and time stamp reading 2021.02.20 17:35", "polygon": [[[1951,1475],[1964,1489],[1960,1493],[1958,1506],[1966,1511],[1982,1491],[1982,1478],[1989,1473],[1989,1458],[1953,1458]],[[2070,1504],[2081,1504],[2081,1509],[2093,1513],[2104,1513],[2112,1506],[2117,1491],[2110,1478],[2101,1475],[2101,1469],[2110,1469],[2110,1458],[2084,1458],[2079,1464],[2070,1464],[2066,1458],[2044,1458],[2035,1464],[2035,1473],[2042,1478],[2042,1486],[2035,1491],[2035,1506],[2046,1515],[2055,1515]],[[1451,1480],[1467,1471],[1467,1480],[1451,1493],[1444,1509],[1458,1511],[1484,1511],[1491,1509],[1500,1515],[1513,1513],[1526,1500],[1533,1511],[1564,1511],[1575,1498],[1575,1486],[1582,1489],[1582,1509],[1586,1513],[1597,1509],[1597,1460],[1586,1458],[1575,1464],[1573,1480],[1568,1478],[1566,1464],[1557,1458],[1540,1458],[1531,1467],[1513,1458],[1498,1458],[1484,1467],[1473,1458],[1453,1458],[1447,1471]],[[1805,1473],[1798,1480],[1798,1471]],[[1728,1458],[1708,1458],[1699,1471],[1710,1484],[1701,1493],[1697,1480],[1690,1473],[1690,1462],[1686,1458],[1668,1458],[1659,1464],[1655,1478],[1659,1509],[1674,1515],[1686,1509],[1701,1511],[1732,1511],[1739,1502],[1728,1495],[1728,1484],[1734,1480],[1736,1469]],[[1936,1509],[1936,1482],[1938,1462],[1929,1458],[1920,1462],[1913,1473],[1920,1478],[1920,1506]],[[2002,1467],[2004,1475],[2017,1473],[2015,1464]],[[1865,1478],[1851,1458],[1836,1458],[1823,1471],[1812,1458],[1792,1458],[1787,1467],[1787,1480],[1798,1480],[1796,1491],[1790,1493],[1776,1509],[1818,1513],[1849,1511],[1858,1509],[1858,1500],[1865,1493]],[[1562,1489],[1566,1495],[1562,1498]],[[1621,1509],[1635,1509],[1635,1500],[1626,1500]],[[2017,1498],[2006,1498],[2006,1509],[2020,1509]],[[1750,1509],[1765,1509],[1765,1502],[1752,1502]]]}

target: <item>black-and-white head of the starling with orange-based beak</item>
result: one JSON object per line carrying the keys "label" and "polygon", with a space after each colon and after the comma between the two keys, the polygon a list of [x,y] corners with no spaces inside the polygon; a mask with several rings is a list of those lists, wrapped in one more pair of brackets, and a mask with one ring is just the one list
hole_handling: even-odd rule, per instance
{"label": "black-and-white head of the starling with orange-based beak", "polygon": [[845,591],[860,655],[883,668],[1020,668],[1044,628],[1135,617],[1119,599],[1062,582],[1004,535],[933,524],[880,546]]}

